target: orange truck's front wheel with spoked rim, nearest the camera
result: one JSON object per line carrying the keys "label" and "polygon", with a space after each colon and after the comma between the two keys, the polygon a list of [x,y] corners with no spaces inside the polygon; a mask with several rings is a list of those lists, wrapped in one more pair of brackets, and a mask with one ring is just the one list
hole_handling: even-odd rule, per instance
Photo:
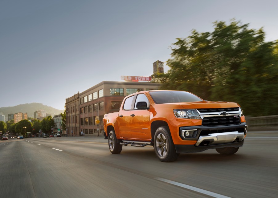
{"label": "orange truck's front wheel with spoked rim, nearest the camera", "polygon": [[179,154],[176,153],[168,127],[159,127],[155,131],[154,151],[161,162],[172,162],[177,160]]}

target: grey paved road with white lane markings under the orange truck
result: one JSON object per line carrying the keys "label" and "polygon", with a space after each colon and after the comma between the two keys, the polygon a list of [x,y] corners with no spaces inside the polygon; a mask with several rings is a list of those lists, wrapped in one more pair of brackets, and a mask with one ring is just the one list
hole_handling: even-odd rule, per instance
{"label": "grey paved road with white lane markings under the orange truck", "polygon": [[113,155],[100,137],[0,141],[0,197],[277,197],[277,134],[248,134],[233,156],[207,150],[171,163],[151,146]]}

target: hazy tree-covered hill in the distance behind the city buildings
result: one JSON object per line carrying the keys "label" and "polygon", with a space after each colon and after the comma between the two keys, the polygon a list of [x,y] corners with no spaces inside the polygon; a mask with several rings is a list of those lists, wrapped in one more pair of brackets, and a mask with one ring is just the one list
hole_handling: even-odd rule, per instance
{"label": "hazy tree-covered hill in the distance behind the city buildings", "polygon": [[6,120],[8,120],[8,114],[10,113],[27,113],[28,117],[34,117],[34,112],[38,110],[44,110],[47,114],[51,115],[58,115],[63,113],[63,110],[55,109],[53,107],[49,107],[43,105],[42,103],[27,103],[27,104],[19,104],[14,107],[0,107],[0,112],[2,112],[6,116]]}

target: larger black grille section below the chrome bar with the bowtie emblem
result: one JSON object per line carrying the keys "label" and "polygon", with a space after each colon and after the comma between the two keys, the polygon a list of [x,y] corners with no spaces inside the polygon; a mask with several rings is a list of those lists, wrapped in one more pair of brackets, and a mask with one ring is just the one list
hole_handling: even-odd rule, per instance
{"label": "larger black grille section below the chrome bar with the bowtie emblem", "polygon": [[240,117],[238,115],[204,117],[202,119],[203,126],[221,126],[239,123]]}

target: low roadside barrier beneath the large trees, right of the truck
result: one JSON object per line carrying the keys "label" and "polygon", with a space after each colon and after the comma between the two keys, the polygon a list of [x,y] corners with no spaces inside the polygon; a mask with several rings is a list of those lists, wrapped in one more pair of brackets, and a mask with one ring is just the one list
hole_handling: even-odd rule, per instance
{"label": "low roadside barrier beneath the large trees, right of the truck", "polygon": [[268,115],[260,117],[245,116],[248,129],[265,129],[277,130],[278,115]]}

